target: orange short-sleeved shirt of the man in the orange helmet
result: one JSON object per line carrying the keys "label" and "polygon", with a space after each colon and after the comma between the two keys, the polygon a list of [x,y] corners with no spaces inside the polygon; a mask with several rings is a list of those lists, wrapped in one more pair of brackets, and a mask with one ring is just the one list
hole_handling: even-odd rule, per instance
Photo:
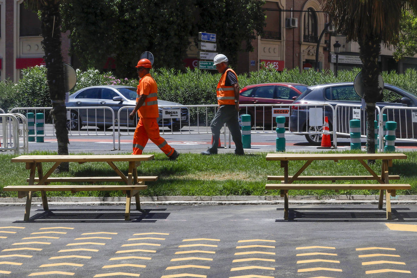
{"label": "orange short-sleeved shirt of the man in the orange helmet", "polygon": [[158,118],[158,86],[149,73],[139,81],[136,90],[136,103],[141,95],[147,95],[147,97],[138,110],[138,116],[140,118]]}

